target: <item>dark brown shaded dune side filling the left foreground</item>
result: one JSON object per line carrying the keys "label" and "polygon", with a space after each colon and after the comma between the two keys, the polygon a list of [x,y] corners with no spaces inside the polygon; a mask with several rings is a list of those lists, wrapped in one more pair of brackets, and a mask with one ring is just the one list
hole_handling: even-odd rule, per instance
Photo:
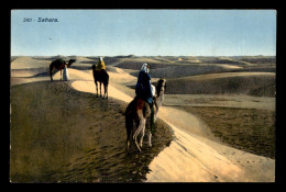
{"label": "dark brown shaded dune side filling the left foreground", "polygon": [[156,122],[154,146],[125,150],[124,102],[76,91],[70,81],[11,87],[10,182],[142,182],[169,145],[172,131]]}

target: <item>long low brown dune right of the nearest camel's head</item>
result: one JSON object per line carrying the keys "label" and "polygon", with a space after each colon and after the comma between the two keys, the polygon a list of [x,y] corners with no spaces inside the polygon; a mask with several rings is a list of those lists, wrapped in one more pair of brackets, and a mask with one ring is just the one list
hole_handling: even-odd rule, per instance
{"label": "long low brown dune right of the nearest camel's head", "polygon": [[222,72],[168,80],[169,94],[246,94],[275,97],[274,72]]}

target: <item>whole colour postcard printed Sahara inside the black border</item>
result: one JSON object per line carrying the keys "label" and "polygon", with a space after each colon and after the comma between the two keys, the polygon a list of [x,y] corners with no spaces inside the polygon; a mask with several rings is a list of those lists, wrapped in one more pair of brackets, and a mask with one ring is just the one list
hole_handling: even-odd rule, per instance
{"label": "whole colour postcard printed Sahara inside the black border", "polygon": [[275,182],[276,10],[11,10],[11,183]]}

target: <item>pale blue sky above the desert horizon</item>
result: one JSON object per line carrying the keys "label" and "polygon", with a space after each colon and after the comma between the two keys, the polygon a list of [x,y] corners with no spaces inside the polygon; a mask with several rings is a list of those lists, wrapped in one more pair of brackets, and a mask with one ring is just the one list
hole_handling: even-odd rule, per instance
{"label": "pale blue sky above the desert horizon", "polygon": [[276,11],[12,10],[11,55],[275,56]]}

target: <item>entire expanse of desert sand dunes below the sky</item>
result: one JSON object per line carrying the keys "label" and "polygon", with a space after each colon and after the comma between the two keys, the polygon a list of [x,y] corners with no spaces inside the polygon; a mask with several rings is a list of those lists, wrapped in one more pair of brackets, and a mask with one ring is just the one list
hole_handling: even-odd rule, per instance
{"label": "entire expanse of desert sand dunes below the sky", "polygon": [[[69,81],[50,81],[56,58],[76,59]],[[108,101],[95,97],[98,58],[11,57],[11,182],[275,181],[276,57],[107,56]],[[167,80],[165,101],[153,147],[127,156],[143,63]]]}

